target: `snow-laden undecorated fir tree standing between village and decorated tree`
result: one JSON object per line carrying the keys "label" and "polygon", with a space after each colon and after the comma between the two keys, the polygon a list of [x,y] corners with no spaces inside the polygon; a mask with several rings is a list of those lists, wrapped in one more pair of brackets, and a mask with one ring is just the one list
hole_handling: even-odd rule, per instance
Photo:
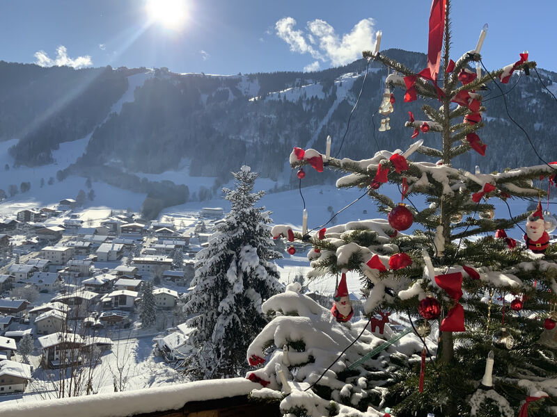
{"label": "snow-laden undecorated fir tree standing between village and decorated tree", "polygon": [[233,176],[235,190],[223,189],[230,213],[198,253],[194,289],[186,298],[185,313],[194,315],[189,325],[195,327],[189,343],[196,350],[187,368],[196,377],[244,373],[246,348],[266,324],[261,303],[281,288],[269,212],[255,206],[264,192],[252,193],[258,174],[242,166]]}

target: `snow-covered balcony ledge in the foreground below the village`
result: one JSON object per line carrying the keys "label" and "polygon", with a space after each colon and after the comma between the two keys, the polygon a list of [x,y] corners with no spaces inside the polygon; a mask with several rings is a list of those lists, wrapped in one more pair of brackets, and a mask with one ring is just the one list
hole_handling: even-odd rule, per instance
{"label": "snow-covered balcony ledge in the foreground below the village", "polygon": [[37,402],[10,401],[0,404],[0,416],[280,416],[278,403],[249,402],[247,395],[260,388],[260,384],[244,378],[209,379],[120,393]]}

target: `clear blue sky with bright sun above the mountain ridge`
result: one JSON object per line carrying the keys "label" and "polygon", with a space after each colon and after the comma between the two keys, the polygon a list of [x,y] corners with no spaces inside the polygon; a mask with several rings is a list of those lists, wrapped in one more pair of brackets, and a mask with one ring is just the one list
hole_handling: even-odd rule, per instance
{"label": "clear blue sky with bright sun above the mountain ridge", "polygon": [[[430,0],[169,1],[187,9],[178,28],[154,20],[146,0],[0,0],[0,60],[207,74],[300,71],[359,58],[379,29],[382,49],[427,51]],[[554,0],[453,0],[451,56],[474,49],[488,23],[488,68],[528,49],[540,67],[557,71],[556,12]]]}

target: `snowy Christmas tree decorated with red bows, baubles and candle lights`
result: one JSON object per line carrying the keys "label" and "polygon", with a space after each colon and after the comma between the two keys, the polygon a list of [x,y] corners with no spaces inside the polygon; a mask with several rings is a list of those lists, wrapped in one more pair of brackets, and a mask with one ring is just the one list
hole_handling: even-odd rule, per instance
{"label": "snowy Christmas tree decorated with red bows, baubles and candle lights", "polygon": [[[557,165],[546,162],[551,156],[540,156],[540,165],[492,174],[453,165],[466,152],[489,157],[489,144],[478,136],[486,85],[501,88],[505,100],[499,84],[513,72],[529,74],[536,64],[525,52],[500,70],[473,69],[482,63],[487,27],[476,49],[451,60],[449,12],[449,0],[433,0],[427,67],[418,74],[380,53],[380,35],[375,51],[363,53],[389,68],[379,131],[389,131],[391,89],[402,88],[405,102],[430,99],[423,120],[409,112],[406,123],[413,138],[423,139],[404,151],[378,149],[359,161],[331,158],[329,149],[320,154],[295,148],[290,154],[292,167],[347,173],[337,186],[367,190],[386,215],[315,233],[305,220],[301,233],[274,227],[274,236],[313,244],[310,277],[350,272],[362,278],[367,329],[375,327],[376,336],[347,321],[350,301],[343,300],[340,286],[328,321],[292,291],[265,303],[264,311],[276,311],[276,318],[247,352],[251,363],[258,359],[265,366],[247,376],[268,386],[253,395],[278,398],[285,414],[388,416],[390,407],[397,417],[557,415],[557,256],[547,234],[557,221],[539,204],[534,213],[495,213],[492,204],[510,198],[538,202],[544,192],[533,181],[547,177],[552,183]],[[403,111],[404,104],[396,106]],[[517,128],[512,140],[531,140],[525,133]],[[418,161],[416,154],[437,163]],[[397,184],[408,205],[382,194],[384,183]],[[411,203],[416,196],[421,205]],[[526,219],[521,245],[505,229]],[[404,233],[413,224],[419,227]],[[409,319],[406,332],[414,335],[397,341],[388,326],[378,333],[388,313]],[[385,339],[383,353],[374,350],[382,348],[377,337]],[[270,390],[279,386],[283,394]]]}

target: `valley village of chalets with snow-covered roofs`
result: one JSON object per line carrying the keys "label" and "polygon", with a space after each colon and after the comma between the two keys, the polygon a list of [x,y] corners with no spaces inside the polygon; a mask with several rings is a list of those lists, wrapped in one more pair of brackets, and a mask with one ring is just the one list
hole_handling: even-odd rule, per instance
{"label": "valley village of chalets with snow-covered roofs", "polygon": [[[72,395],[133,388],[130,357],[140,345],[151,366],[175,378],[168,370],[186,357],[191,330],[180,296],[223,215],[203,208],[147,221],[105,209],[91,218],[63,199],[0,220],[0,401],[68,395],[63,384],[73,384]],[[139,312],[146,292],[148,326]]]}

